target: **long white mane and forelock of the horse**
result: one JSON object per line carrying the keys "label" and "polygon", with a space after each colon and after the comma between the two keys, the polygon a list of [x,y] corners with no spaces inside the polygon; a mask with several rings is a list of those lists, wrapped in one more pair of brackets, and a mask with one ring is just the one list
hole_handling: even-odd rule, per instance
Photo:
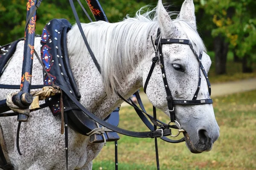
{"label": "long white mane and forelock of the horse", "polygon": [[[159,27],[157,8],[144,11],[145,6],[137,11],[135,17],[128,15],[119,23],[98,21],[83,23],[82,28],[90,48],[99,62],[106,94],[115,95],[115,89],[121,85],[122,77],[127,76],[135,68],[136,62],[148,54],[148,41],[152,31]],[[174,13],[169,12],[171,17]],[[196,51],[206,51],[203,41],[197,31],[193,30],[186,21],[179,17],[173,20],[179,23],[187,33],[187,37]],[[81,37],[78,26],[75,24],[70,30],[68,49],[74,54],[76,62],[85,63],[90,56]]]}

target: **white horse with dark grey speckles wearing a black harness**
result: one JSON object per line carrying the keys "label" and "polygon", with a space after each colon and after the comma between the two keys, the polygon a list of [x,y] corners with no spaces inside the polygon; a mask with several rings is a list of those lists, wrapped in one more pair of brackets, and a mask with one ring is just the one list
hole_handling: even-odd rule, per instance
{"label": "white horse with dark grey speckles wearing a black harness", "polygon": [[[153,18],[151,14],[155,12]],[[103,21],[82,24],[84,34],[92,48],[102,75],[97,70],[75,25],[68,32],[68,52],[70,65],[81,92],[81,104],[101,119],[110,114],[122,100],[116,96],[116,89],[128,98],[143,87],[154,57],[150,37],[156,39],[157,29],[163,38],[188,39],[196,51],[206,51],[203,41],[196,31],[195,8],[192,0],[185,0],[180,14],[171,20],[159,0],[154,11],[137,13],[119,23]],[[0,83],[20,84],[23,44],[7,66]],[[40,38],[35,39],[35,50],[40,53]],[[191,100],[198,83],[198,61],[189,45],[163,45],[166,63],[166,77],[174,99]],[[211,65],[209,56],[203,52],[202,63],[208,72]],[[177,69],[179,67],[180,69]],[[175,69],[176,68],[176,69]],[[183,70],[180,71],[180,70]],[[37,59],[33,62],[32,84],[43,83],[42,68]],[[5,99],[13,91],[0,89],[0,99]],[[150,102],[169,114],[166,92],[159,63],[154,68],[147,86]],[[198,99],[209,99],[207,82],[202,77]],[[189,138],[186,144],[191,152],[204,152],[212,148],[218,139],[219,127],[215,120],[212,104],[176,105],[176,119]],[[65,144],[60,133],[61,118],[52,116],[49,108],[31,113],[29,122],[22,123],[20,129],[20,156],[16,149],[17,117],[0,118],[0,125],[10,161],[19,170],[64,170]],[[203,130],[203,133],[201,133]],[[210,139],[210,140],[209,140]],[[99,154],[103,144],[89,144],[89,138],[69,128],[69,170],[91,170],[92,161]]]}

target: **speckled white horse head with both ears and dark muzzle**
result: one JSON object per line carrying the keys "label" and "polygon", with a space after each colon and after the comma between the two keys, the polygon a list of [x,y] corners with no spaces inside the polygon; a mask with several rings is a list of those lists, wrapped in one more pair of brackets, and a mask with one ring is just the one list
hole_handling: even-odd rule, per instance
{"label": "speckled white horse head with both ears and dark muzzle", "polygon": [[[170,116],[170,108],[166,100],[166,88],[169,88],[173,100],[186,101],[197,99],[204,102],[210,99],[207,87],[207,72],[211,65],[210,57],[205,53],[203,41],[196,31],[195,7],[192,0],[185,0],[177,19],[172,20],[159,0],[157,5],[157,22],[160,32],[154,36],[158,40],[157,48],[161,48],[163,65],[156,63],[148,81],[146,93],[150,102]],[[157,37],[158,36],[158,37]],[[166,43],[160,44],[160,40]],[[168,43],[169,39],[180,42],[189,40],[188,44]],[[151,45],[152,46],[152,45]],[[153,47],[152,47],[153,48]],[[199,59],[196,55],[200,56]],[[158,51],[157,56],[161,55]],[[152,56],[151,56],[152,59]],[[200,69],[200,62],[204,65]],[[149,63],[149,60],[148,60]],[[149,64],[148,64],[149,65]],[[143,84],[148,77],[150,66],[145,65]],[[206,76],[204,76],[205,71]],[[163,77],[167,79],[164,83]],[[198,83],[200,80],[201,83]],[[197,93],[195,93],[197,91]],[[215,120],[212,104],[180,105],[175,104],[176,121],[185,132],[186,145],[192,153],[201,153],[212,149],[212,144],[218,139],[219,127]]]}

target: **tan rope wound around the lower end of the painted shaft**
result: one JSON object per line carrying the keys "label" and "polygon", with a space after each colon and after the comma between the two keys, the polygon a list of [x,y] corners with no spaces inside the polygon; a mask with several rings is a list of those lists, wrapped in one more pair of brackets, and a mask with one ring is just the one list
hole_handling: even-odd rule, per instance
{"label": "tan rope wound around the lower end of the painted shaft", "polygon": [[[15,96],[16,94],[18,94],[19,92],[15,92],[12,94],[7,94],[6,96],[6,105],[12,109],[12,111],[17,112],[17,113],[21,113],[24,114],[26,116],[29,116],[29,108],[20,108],[19,106],[15,105],[12,102],[12,97]],[[43,87],[42,90],[40,91],[31,91],[30,94],[32,96],[39,96],[39,100],[43,100],[46,99],[49,96],[53,96],[55,94],[61,93],[60,90],[53,88],[52,86],[45,86]]]}

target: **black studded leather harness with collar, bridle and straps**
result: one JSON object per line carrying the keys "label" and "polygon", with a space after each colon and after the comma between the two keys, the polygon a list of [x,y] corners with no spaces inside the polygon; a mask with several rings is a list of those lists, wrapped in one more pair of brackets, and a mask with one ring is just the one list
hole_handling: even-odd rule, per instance
{"label": "black studded leather harness with collar, bridle and straps", "polygon": [[[72,4],[71,4],[72,6]],[[74,13],[75,14],[75,13]],[[77,14],[75,14],[76,17]],[[84,36],[84,32],[81,29],[81,23],[79,20],[76,20],[77,25],[79,27],[79,30],[81,31],[81,35],[84,39],[84,42],[88,48],[88,51],[90,54],[92,53],[90,46],[88,45],[88,42],[86,40],[86,37]],[[53,25],[53,27],[50,27],[49,25]],[[140,108],[136,104],[134,104],[132,101],[129,103],[126,99],[124,99],[118,92],[118,96],[122,98],[125,102],[128,102],[128,104],[132,105],[135,108],[135,111],[140,116],[140,118],[143,120],[144,124],[147,125],[147,127],[151,130],[148,132],[133,132],[129,130],[124,130],[119,127],[117,127],[119,119],[116,120],[116,117],[119,118],[117,109],[115,112],[111,113],[110,116],[107,117],[107,119],[102,120],[96,117],[93,113],[90,113],[86,108],[84,108],[83,105],[79,103],[79,99],[81,98],[81,95],[79,93],[79,90],[76,86],[76,82],[74,80],[72,71],[70,69],[70,64],[67,56],[67,31],[70,29],[70,23],[67,20],[51,20],[46,27],[43,30],[43,34],[41,37],[41,64],[44,65],[44,85],[58,85],[63,93],[63,105],[61,105],[61,96],[54,96],[46,99],[46,104],[44,107],[49,106],[50,110],[52,111],[53,115],[56,116],[59,113],[61,113],[61,108],[64,108],[64,123],[65,123],[65,150],[66,150],[66,164],[68,164],[67,157],[68,157],[68,139],[67,139],[67,120],[69,119],[69,125],[76,130],[77,132],[89,135],[90,131],[96,128],[103,128],[106,129],[105,133],[93,134],[93,137],[91,137],[91,142],[93,143],[99,143],[99,142],[105,142],[105,141],[116,141],[119,139],[119,136],[117,133],[121,133],[127,136],[133,136],[133,137],[140,137],[140,138],[155,138],[155,146],[156,146],[156,157],[157,157],[157,169],[159,169],[159,161],[158,161],[158,151],[157,151],[157,138],[161,138],[166,142],[171,143],[178,143],[183,142],[184,138],[179,140],[172,140],[166,138],[166,136],[172,135],[171,129],[176,128],[180,132],[184,132],[183,129],[181,129],[180,124],[175,119],[175,105],[202,105],[202,104],[211,104],[212,99],[203,99],[203,100],[197,100],[198,92],[201,85],[201,71],[203,72],[208,85],[209,95],[211,94],[211,87],[209,83],[209,79],[207,77],[207,74],[204,70],[204,67],[201,63],[202,58],[202,52],[200,52],[199,56],[196,54],[195,50],[193,49],[192,45],[190,44],[189,40],[183,40],[183,39],[160,39],[160,29],[157,31],[157,39],[155,41],[155,45],[157,45],[157,50],[155,51],[155,57],[152,59],[152,65],[150,68],[150,71],[148,73],[148,77],[145,81],[144,85],[144,92],[146,92],[146,88],[148,85],[148,81],[151,77],[151,74],[154,70],[155,64],[160,61],[160,68],[162,71],[162,77],[163,82],[165,85],[165,90],[167,94],[167,102],[168,102],[168,108],[170,113],[170,122],[168,124],[163,123],[156,118],[156,108],[153,106],[153,116],[148,115],[148,113],[145,112],[145,108],[143,107],[143,104],[141,102],[140,96],[138,92],[136,92],[137,100],[140,105]],[[62,35],[62,36],[61,36]],[[87,43],[86,43],[87,42]],[[17,45],[17,42],[15,42]],[[179,44],[186,44],[189,45],[192,49],[193,53],[198,59],[199,62],[199,80],[198,80],[198,88],[195,91],[194,97],[192,100],[174,100],[172,98],[171,91],[169,89],[169,85],[166,79],[166,73],[164,69],[164,60],[163,60],[163,53],[162,53],[162,45],[163,44],[169,44],[169,43],[179,43]],[[50,44],[52,44],[50,46]],[[15,45],[15,46],[16,46]],[[12,45],[11,45],[12,46]],[[15,49],[15,48],[14,48]],[[54,50],[53,50],[54,49]],[[61,51],[62,49],[62,51]],[[51,53],[49,52],[51,51]],[[12,53],[13,54],[13,53]],[[157,56],[159,54],[159,57]],[[35,55],[36,52],[35,52]],[[93,53],[91,54],[92,58],[94,57]],[[8,61],[8,60],[7,60]],[[100,66],[97,62],[96,58],[93,58],[93,62],[95,63],[96,67],[98,68],[99,72]],[[4,87],[4,86],[3,86]],[[3,88],[0,86],[0,88]],[[5,86],[6,87],[6,86]],[[41,88],[42,86],[36,86],[34,88]],[[9,88],[19,88],[15,85],[9,86]],[[33,88],[33,87],[32,87]],[[41,108],[44,108],[41,107]],[[145,115],[148,116],[148,118],[151,120],[151,122],[154,124],[154,126],[148,121],[148,119],[145,117]],[[176,125],[170,125],[171,122],[176,122],[178,126]],[[100,124],[100,125],[99,125]],[[87,127],[87,128],[84,128]],[[160,127],[157,129],[157,127]],[[85,130],[84,130],[85,129]],[[104,131],[104,130],[103,130]],[[116,133],[117,132],[117,133]],[[177,136],[177,135],[176,135]],[[175,136],[175,137],[176,137]],[[117,147],[117,143],[115,143]],[[116,148],[115,147],[115,148]],[[1,151],[1,150],[0,150]],[[116,149],[117,152],[117,149]],[[0,156],[1,156],[0,152]],[[2,156],[1,156],[2,157]],[[117,156],[116,156],[117,157]],[[117,169],[117,162],[116,162],[116,169]]]}

